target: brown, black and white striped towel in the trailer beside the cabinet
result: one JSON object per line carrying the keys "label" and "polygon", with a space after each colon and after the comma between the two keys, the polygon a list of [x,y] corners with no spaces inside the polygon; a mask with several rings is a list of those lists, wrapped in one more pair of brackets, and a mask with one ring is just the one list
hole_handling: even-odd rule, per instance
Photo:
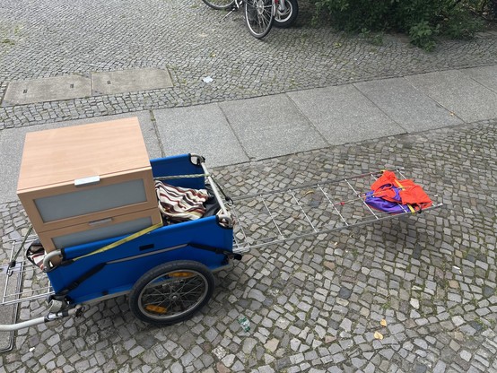
{"label": "brown, black and white striped towel in the trailer beside the cabinet", "polygon": [[189,189],[155,182],[159,210],[166,221],[195,221],[205,213],[204,203],[209,198],[205,189]]}

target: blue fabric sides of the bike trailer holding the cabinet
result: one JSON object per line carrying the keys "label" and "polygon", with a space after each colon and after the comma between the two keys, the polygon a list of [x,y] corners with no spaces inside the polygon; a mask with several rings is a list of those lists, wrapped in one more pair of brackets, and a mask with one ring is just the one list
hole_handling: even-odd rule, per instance
{"label": "blue fabric sides of the bike trailer holding the cabinet", "polygon": [[[188,154],[151,160],[151,163],[154,177],[204,173]],[[202,188],[205,178],[179,178],[168,183]],[[216,270],[228,264],[233,231],[210,216],[164,226],[108,251],[72,260],[123,238],[65,247],[67,264],[47,273],[56,294],[62,293],[77,304],[126,292],[153,267],[175,260],[193,260]]]}

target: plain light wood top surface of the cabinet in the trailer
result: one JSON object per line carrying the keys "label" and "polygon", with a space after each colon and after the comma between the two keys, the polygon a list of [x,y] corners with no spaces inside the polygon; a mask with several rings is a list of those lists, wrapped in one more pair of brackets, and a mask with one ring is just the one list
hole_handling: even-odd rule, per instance
{"label": "plain light wood top surface of the cabinet in the trailer", "polygon": [[138,118],[26,134],[17,190],[150,168]]}

